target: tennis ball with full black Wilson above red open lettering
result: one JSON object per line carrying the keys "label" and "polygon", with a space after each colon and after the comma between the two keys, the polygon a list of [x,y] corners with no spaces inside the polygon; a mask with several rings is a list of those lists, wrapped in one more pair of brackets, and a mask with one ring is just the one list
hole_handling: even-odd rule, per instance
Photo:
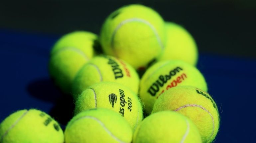
{"label": "tennis ball with full black Wilson above red open lettering", "polygon": [[207,91],[203,75],[194,66],[179,60],[160,61],[142,76],[139,95],[149,114],[160,94],[179,85],[190,85]]}

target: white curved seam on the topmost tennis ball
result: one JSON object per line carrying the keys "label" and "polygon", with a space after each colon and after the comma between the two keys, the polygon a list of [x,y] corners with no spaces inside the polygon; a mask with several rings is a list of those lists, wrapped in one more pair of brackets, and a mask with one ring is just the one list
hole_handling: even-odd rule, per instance
{"label": "white curved seam on the topmost tennis ball", "polygon": [[126,23],[134,22],[134,21],[136,21],[136,22],[142,22],[142,23],[148,25],[148,26],[152,29],[152,31],[154,32],[154,34],[155,34],[155,36],[156,36],[156,38],[157,38],[157,42],[159,43],[161,49],[162,49],[162,50],[164,49],[164,45],[163,45],[163,43],[162,43],[162,41],[161,41],[161,39],[160,39],[160,36],[159,36],[159,34],[157,33],[157,30],[155,29],[155,27],[154,27],[151,23],[149,23],[148,21],[146,21],[146,20],[144,20],[144,19],[140,19],[140,18],[130,18],[130,19],[126,19],[126,20],[121,21],[121,22],[117,25],[117,27],[115,28],[113,34],[111,35],[111,47],[112,47],[112,48],[113,48],[113,46],[114,46],[114,37],[115,37],[115,35],[116,35],[116,32],[120,29],[120,27],[122,27],[122,26],[123,26],[124,24],[126,24]]}

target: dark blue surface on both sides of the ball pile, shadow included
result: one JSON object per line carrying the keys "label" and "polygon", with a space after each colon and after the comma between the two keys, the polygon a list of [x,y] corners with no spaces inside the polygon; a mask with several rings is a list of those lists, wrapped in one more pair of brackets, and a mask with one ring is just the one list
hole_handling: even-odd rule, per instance
{"label": "dark blue surface on both sides of the ball pile, shadow included", "polygon": [[[72,99],[59,92],[48,74],[49,52],[58,38],[0,30],[0,122],[24,108],[43,110],[63,127],[72,117]],[[198,68],[220,112],[215,142],[255,142],[256,61],[200,53]]]}

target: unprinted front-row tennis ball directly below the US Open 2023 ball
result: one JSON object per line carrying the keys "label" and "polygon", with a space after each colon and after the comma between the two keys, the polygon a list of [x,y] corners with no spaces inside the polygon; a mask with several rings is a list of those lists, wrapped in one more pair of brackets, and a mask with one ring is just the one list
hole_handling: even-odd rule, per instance
{"label": "unprinted front-row tennis ball directly below the US Open 2023 ball", "polygon": [[67,124],[65,143],[130,143],[132,129],[122,116],[108,109],[77,114]]}

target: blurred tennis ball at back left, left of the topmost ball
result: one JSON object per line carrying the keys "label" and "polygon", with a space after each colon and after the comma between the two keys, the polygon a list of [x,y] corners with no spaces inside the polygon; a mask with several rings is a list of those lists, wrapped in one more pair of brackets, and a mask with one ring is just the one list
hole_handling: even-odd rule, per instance
{"label": "blurred tennis ball at back left, left of the topmost ball", "polygon": [[49,72],[55,84],[64,92],[71,92],[71,85],[77,71],[93,55],[97,36],[85,31],[64,35],[52,49]]}

